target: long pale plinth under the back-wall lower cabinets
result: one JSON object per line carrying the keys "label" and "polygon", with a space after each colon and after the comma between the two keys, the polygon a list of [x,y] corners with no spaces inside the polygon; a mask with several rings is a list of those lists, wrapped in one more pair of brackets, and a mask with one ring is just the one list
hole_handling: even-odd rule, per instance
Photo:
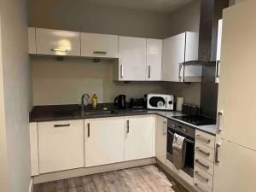
{"label": "long pale plinth under the back-wall lower cabinets", "polygon": [[57,180],[66,179],[66,178],[81,177],[81,176],[92,175],[92,174],[101,173],[101,172],[111,172],[111,171],[116,171],[121,169],[127,169],[131,167],[136,167],[136,166],[146,166],[146,165],[151,165],[155,163],[156,163],[156,159],[153,157],[153,158],[148,158],[143,160],[131,160],[126,162],[114,163],[114,164],[109,164],[105,166],[93,166],[88,168],[79,168],[79,169],[67,170],[62,172],[50,172],[50,173],[34,176],[33,183],[34,184],[46,183],[46,182],[57,181]]}

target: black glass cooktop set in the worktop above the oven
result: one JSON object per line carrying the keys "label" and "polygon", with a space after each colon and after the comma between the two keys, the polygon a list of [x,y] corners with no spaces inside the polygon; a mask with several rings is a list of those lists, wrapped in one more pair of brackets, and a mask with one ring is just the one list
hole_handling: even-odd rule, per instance
{"label": "black glass cooktop set in the worktop above the oven", "polygon": [[174,119],[179,119],[182,120],[184,122],[187,122],[189,124],[192,125],[215,125],[216,124],[216,120],[215,119],[211,119],[205,116],[201,116],[201,115],[185,115],[185,116],[176,116],[173,117]]}

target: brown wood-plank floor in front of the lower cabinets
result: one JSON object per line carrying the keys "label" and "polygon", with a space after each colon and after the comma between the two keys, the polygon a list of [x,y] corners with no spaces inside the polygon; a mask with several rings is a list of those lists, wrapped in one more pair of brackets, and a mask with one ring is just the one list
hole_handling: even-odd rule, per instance
{"label": "brown wood-plank floor in front of the lower cabinets", "polygon": [[157,166],[75,177],[34,186],[33,192],[187,192]]}

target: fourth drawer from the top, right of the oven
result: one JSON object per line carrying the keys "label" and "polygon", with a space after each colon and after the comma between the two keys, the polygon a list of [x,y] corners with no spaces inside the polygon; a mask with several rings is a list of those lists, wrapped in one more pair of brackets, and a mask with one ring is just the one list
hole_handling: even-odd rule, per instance
{"label": "fourth drawer from the top, right of the oven", "polygon": [[196,180],[197,183],[201,183],[202,186],[212,189],[212,176],[202,171],[198,166],[194,168],[194,180]]}

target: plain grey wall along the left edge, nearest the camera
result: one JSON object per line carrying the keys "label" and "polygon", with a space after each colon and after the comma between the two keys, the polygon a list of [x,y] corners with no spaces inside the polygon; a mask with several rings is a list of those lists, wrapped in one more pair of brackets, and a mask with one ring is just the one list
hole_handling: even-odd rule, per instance
{"label": "plain grey wall along the left edge, nearest the camera", "polygon": [[[9,175],[9,191],[26,192],[31,181],[28,113],[32,106],[26,0],[1,1],[0,14],[3,67],[3,75],[0,73],[0,83],[3,81],[0,89],[3,90],[0,93],[4,99],[1,103],[4,106],[1,105],[1,109],[4,108],[4,122],[3,116],[1,119],[4,126],[0,129],[5,128],[9,164],[5,173]],[[2,185],[0,188],[2,192]]]}

